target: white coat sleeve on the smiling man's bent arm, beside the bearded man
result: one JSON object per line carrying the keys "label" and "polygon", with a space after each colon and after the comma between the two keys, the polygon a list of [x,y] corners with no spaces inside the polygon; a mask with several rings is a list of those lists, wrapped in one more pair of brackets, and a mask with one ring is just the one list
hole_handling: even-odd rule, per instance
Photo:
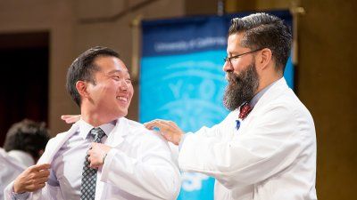
{"label": "white coat sleeve on the smiling man's bent arm, beside the bearded man", "polygon": [[174,164],[168,143],[153,132],[140,139],[137,157],[112,148],[105,158],[101,180],[143,199],[176,199],[179,195],[179,168]]}

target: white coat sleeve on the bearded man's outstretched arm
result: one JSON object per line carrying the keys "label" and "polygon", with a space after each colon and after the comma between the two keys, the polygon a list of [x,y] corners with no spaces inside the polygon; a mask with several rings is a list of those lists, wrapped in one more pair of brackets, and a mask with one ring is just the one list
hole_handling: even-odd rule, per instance
{"label": "white coat sleeve on the bearded man's outstretched arm", "polygon": [[285,169],[301,152],[296,116],[276,105],[256,117],[233,140],[187,135],[179,152],[180,169],[212,176],[227,188],[254,184]]}

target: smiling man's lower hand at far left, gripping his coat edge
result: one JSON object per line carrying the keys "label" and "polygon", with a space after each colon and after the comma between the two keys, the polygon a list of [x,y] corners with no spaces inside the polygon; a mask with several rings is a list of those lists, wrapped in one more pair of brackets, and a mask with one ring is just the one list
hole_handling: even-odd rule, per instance
{"label": "smiling man's lower hand at far left, gripping his coat edge", "polygon": [[13,191],[15,193],[33,192],[44,188],[50,171],[51,164],[37,164],[30,166],[14,180]]}

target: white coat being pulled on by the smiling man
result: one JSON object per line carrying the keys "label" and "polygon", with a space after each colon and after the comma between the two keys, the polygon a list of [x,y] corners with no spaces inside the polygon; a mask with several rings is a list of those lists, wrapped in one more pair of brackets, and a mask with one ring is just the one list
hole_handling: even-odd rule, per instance
{"label": "white coat being pulled on by the smiling man", "polygon": [[[78,131],[79,124],[76,123],[68,132],[49,140],[38,164],[51,164],[63,143]],[[176,199],[179,195],[179,169],[161,136],[149,132],[142,124],[121,117],[105,144],[114,148],[106,156],[103,168],[98,170],[101,179],[97,179],[95,192],[101,193],[100,200]],[[11,199],[12,186],[10,184],[5,189],[5,200]],[[62,200],[62,192],[60,187],[46,184],[45,188],[31,193],[29,199]]]}

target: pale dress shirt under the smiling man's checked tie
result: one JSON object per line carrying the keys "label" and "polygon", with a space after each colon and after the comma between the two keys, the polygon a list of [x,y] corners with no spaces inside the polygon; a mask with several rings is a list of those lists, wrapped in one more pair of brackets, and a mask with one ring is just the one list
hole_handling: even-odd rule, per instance
{"label": "pale dress shirt under the smiling man's checked tie", "polygon": [[[109,124],[102,124],[99,127],[104,131],[105,136],[102,143],[108,138],[110,132],[114,128],[115,121]],[[91,124],[87,124],[83,119],[79,120],[79,131],[75,132],[69,140],[67,140],[62,148],[54,156],[51,164],[50,177],[47,184],[60,187],[63,199],[79,199],[80,198],[80,183],[82,180],[82,171],[84,161],[87,156],[87,151],[90,148],[93,138],[89,136],[89,132],[95,128]],[[101,173],[98,171],[97,180],[100,180]],[[97,185],[100,184],[97,181]],[[103,187],[97,187],[101,189]],[[29,196],[29,194],[14,194],[17,199]]]}

